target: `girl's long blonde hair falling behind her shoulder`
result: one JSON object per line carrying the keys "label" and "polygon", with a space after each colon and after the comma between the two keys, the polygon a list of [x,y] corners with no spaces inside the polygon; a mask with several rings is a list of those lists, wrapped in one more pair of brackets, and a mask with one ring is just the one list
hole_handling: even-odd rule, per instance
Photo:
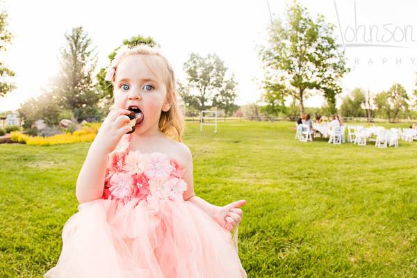
{"label": "girl's long blonde hair falling behind her shoulder", "polygon": [[[172,65],[168,62],[167,58],[161,55],[161,53],[146,44],[139,44],[136,47],[129,48],[127,46],[121,47],[117,50],[115,58],[111,61],[111,68],[114,69],[115,74],[111,77],[111,82],[115,82],[115,76],[117,74],[117,65],[124,56],[129,55],[140,55],[145,65],[149,70],[156,74],[155,67],[160,67],[162,70],[163,81],[167,88],[167,101],[171,105],[170,110],[161,111],[161,117],[159,118],[158,127],[159,130],[174,140],[182,142],[183,129],[184,129],[184,118],[179,105],[177,103],[177,90],[174,76],[174,70]],[[113,89],[114,90],[114,89]],[[113,93],[114,97],[114,93]]]}

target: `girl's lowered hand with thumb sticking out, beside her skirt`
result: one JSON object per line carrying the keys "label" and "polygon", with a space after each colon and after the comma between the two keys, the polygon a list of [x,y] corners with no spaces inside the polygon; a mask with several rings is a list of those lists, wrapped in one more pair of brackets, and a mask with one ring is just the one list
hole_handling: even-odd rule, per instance
{"label": "girl's lowered hand with thumb sticking out, beside her skirt", "polygon": [[228,231],[233,230],[242,221],[243,211],[240,206],[246,204],[245,200],[240,200],[222,206],[214,213],[213,219],[217,221],[221,227]]}

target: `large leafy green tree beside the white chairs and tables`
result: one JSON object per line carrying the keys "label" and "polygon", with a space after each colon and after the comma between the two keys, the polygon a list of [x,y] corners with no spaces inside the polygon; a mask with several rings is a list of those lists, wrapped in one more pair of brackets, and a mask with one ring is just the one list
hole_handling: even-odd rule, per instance
{"label": "large leafy green tree beside the white chairs and tables", "polygon": [[300,103],[300,113],[304,112],[304,99],[317,92],[335,113],[336,95],[342,91],[337,81],[349,69],[336,45],[334,25],[326,23],[322,15],[314,22],[297,1],[288,9],[286,24],[272,21],[269,44],[259,51],[264,67],[271,71],[265,79],[288,88],[288,94]]}

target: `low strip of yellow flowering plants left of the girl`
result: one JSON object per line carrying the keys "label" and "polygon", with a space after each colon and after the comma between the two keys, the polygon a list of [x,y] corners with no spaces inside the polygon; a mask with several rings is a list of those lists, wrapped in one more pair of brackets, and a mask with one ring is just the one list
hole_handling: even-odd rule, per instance
{"label": "low strip of yellow flowering plants left of the girl", "polygon": [[99,127],[100,122],[83,124],[83,127],[73,133],[60,133],[54,136],[28,136],[18,131],[10,133],[11,140],[27,145],[59,145],[70,144],[75,142],[92,142],[94,140]]}

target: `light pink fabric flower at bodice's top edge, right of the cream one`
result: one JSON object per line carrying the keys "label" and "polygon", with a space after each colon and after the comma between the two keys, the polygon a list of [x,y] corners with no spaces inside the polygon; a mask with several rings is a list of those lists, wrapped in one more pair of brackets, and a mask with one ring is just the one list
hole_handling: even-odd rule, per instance
{"label": "light pink fabric flower at bodice's top edge, right of the cream one", "polygon": [[149,154],[147,164],[145,166],[145,174],[149,179],[170,177],[174,167],[170,163],[170,159],[161,153]]}

